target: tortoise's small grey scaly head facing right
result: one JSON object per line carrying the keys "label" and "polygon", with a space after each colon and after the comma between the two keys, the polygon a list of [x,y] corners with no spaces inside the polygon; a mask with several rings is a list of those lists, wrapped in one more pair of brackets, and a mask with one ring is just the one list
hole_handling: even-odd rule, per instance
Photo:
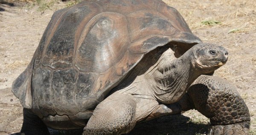
{"label": "tortoise's small grey scaly head facing right", "polygon": [[222,46],[211,43],[199,43],[191,48],[193,66],[205,73],[213,72],[223,66],[228,59],[228,51]]}

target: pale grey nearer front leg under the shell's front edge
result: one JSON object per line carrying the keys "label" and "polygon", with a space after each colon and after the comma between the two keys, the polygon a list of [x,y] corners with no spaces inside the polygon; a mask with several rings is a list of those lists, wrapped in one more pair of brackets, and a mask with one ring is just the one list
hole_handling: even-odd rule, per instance
{"label": "pale grey nearer front leg under the shell's front edge", "polygon": [[121,135],[136,124],[136,102],[130,94],[112,94],[96,106],[83,135]]}

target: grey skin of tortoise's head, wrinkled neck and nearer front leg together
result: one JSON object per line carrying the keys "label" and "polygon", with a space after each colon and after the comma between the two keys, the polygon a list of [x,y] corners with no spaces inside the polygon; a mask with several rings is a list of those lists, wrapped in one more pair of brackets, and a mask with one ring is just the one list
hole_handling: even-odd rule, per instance
{"label": "grey skin of tortoise's head, wrinkled neck and nearer front leg together", "polygon": [[[131,74],[136,77],[128,86],[99,103],[83,135],[120,135],[130,132],[136,122],[180,113],[181,109],[164,104],[179,101],[195,79],[224,65],[227,55],[223,47],[207,43],[193,46],[179,58],[167,49],[153,66],[144,67],[137,75]],[[146,64],[141,62],[138,67],[141,69],[143,65]]]}

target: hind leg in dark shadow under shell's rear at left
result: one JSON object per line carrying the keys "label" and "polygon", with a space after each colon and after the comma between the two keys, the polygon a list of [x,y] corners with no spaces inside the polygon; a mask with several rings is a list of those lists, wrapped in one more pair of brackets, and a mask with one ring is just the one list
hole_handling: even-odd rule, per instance
{"label": "hind leg in dark shadow under shell's rear at left", "polygon": [[23,108],[21,135],[50,135],[43,121],[29,109]]}

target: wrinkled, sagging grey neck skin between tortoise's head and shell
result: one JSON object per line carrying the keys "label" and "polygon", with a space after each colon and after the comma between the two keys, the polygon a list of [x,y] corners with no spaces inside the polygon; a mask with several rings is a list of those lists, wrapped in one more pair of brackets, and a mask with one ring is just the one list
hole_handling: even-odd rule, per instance
{"label": "wrinkled, sagging grey neck skin between tortoise's head and shell", "polygon": [[174,103],[186,92],[190,84],[198,78],[192,67],[193,57],[187,51],[181,57],[168,60],[163,58],[154,73],[154,95],[162,103]]}

